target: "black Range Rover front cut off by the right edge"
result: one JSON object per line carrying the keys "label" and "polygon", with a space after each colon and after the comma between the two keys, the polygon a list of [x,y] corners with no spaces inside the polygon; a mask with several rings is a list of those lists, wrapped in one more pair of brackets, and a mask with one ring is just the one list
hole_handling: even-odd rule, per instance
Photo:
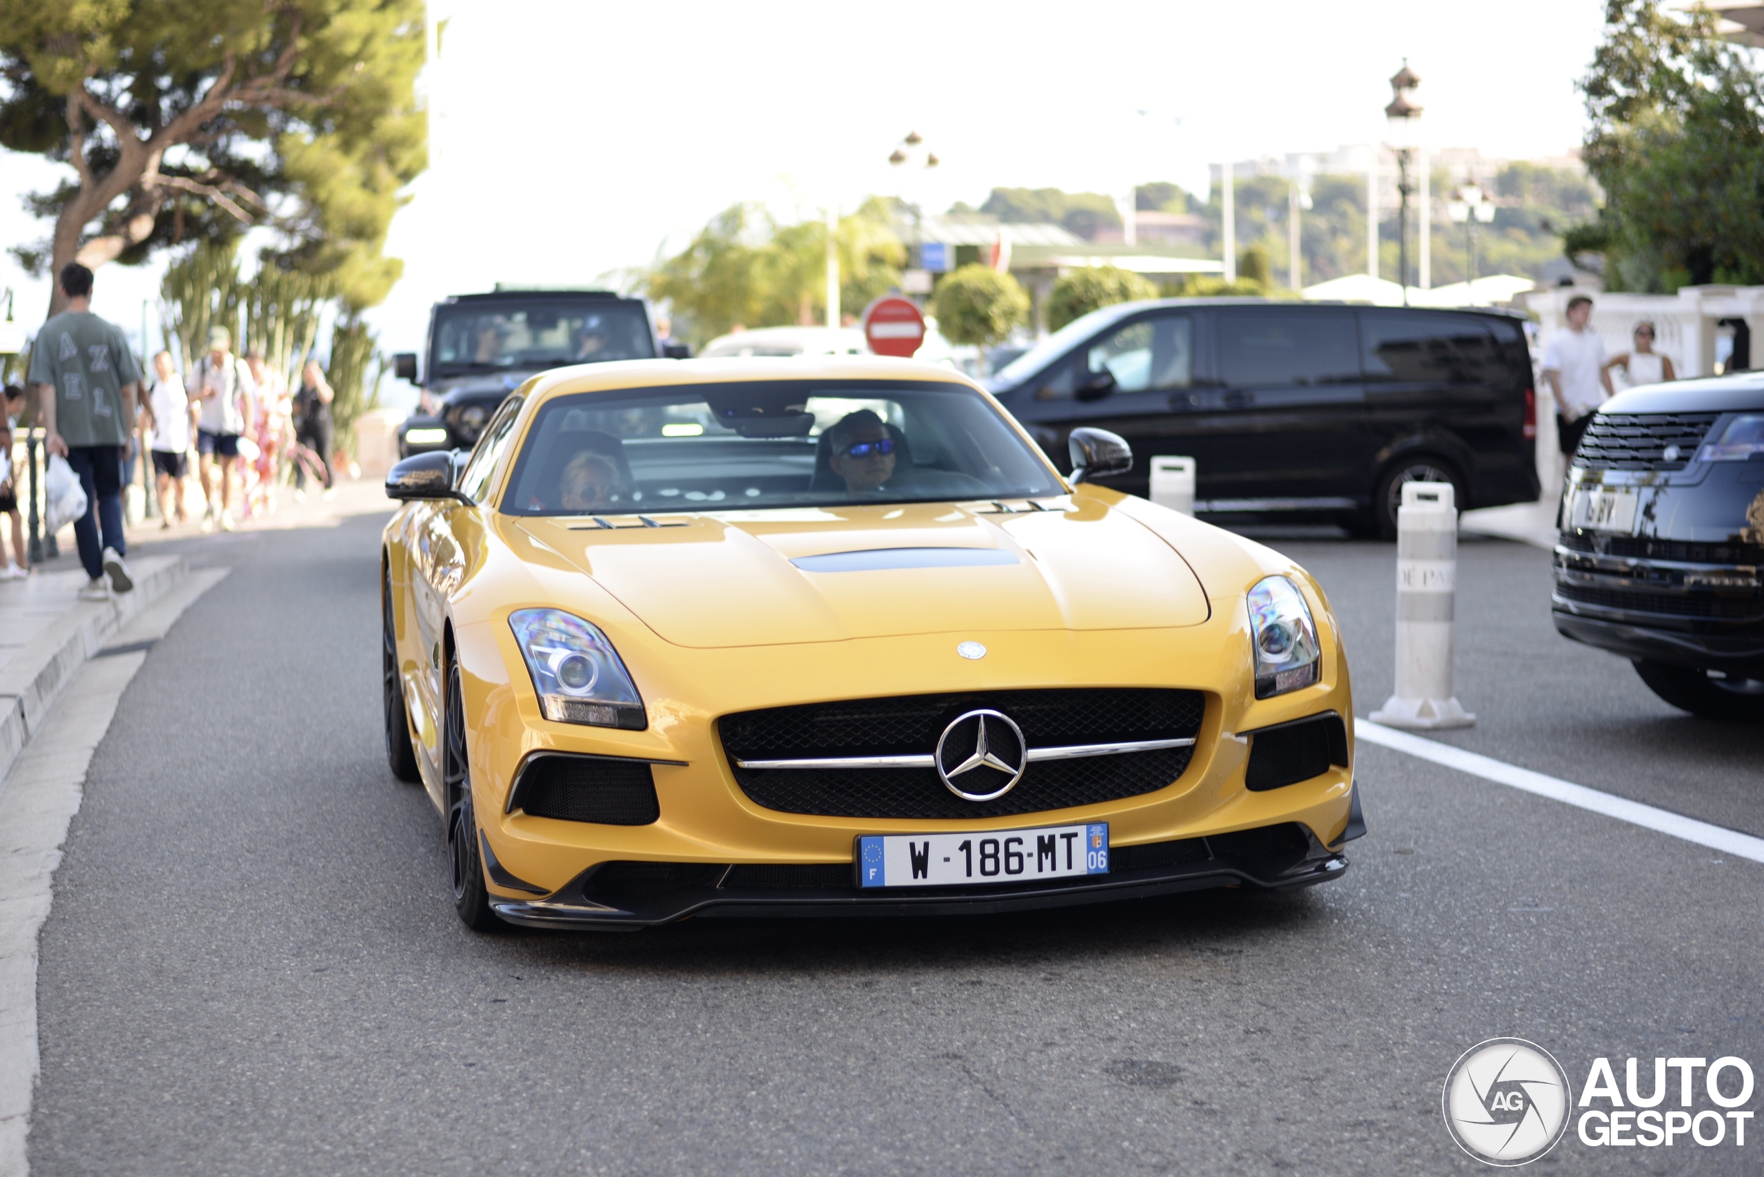
{"label": "black Range Rover front cut off by the right edge", "polygon": [[1607,400],[1563,490],[1556,629],[1655,694],[1764,721],[1764,375]]}

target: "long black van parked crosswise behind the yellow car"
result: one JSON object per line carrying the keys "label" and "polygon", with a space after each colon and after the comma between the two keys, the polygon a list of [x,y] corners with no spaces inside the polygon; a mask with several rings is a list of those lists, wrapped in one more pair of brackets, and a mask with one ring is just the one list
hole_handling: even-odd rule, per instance
{"label": "long black van parked crosswise behind the yellow car", "polygon": [[1065,469],[1094,425],[1140,462],[1097,479],[1147,493],[1155,455],[1196,460],[1215,522],[1311,520],[1395,537],[1402,483],[1461,509],[1538,497],[1536,395],[1517,315],[1259,298],[1104,307],[991,379]]}

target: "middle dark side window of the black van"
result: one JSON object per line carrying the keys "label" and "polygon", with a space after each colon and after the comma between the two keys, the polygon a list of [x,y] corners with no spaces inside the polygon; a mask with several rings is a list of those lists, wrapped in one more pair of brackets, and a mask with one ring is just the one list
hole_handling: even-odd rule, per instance
{"label": "middle dark side window of the black van", "polygon": [[1224,310],[1217,344],[1219,375],[1230,388],[1353,384],[1360,379],[1351,310]]}

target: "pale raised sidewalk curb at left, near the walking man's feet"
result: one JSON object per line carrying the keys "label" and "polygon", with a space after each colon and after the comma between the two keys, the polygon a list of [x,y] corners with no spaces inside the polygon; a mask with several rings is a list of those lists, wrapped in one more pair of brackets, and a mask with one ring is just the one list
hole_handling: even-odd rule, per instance
{"label": "pale raised sidewalk curb at left, near the walking man's feet", "polygon": [[0,666],[0,789],[30,737],[69,678],[143,610],[182,585],[191,566],[182,555],[134,564],[134,590],[109,601],[81,601]]}

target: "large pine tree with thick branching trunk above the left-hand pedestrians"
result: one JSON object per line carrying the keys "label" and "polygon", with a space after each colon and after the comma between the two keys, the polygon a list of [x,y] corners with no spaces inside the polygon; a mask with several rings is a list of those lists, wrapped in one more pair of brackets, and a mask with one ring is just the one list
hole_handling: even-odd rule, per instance
{"label": "large pine tree with thick branching trunk above the left-hand pedestrians", "polygon": [[49,240],[14,252],[97,268],[270,226],[284,264],[374,305],[425,166],[422,63],[420,0],[0,0],[0,144],[74,173],[30,201]]}

